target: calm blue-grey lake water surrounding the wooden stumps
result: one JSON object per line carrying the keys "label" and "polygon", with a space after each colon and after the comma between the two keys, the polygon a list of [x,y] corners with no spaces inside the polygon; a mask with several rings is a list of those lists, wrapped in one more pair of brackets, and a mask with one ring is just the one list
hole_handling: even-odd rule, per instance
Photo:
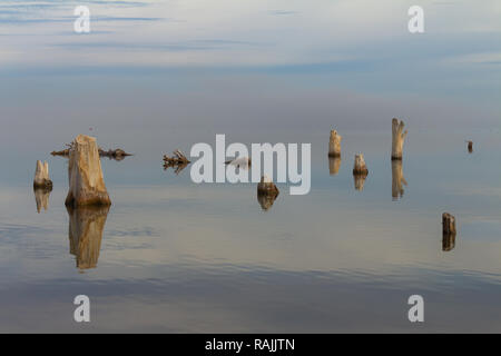
{"label": "calm blue-grey lake water surrounding the wooden stumps", "polygon": [[[328,127],[227,135],[227,142],[312,142],[310,195],[278,185],[268,210],[255,185],[195,185],[189,166],[164,171],[161,152],[214,144],[212,132],[151,130],[143,146],[121,145],[135,156],[102,159],[108,212],[67,211],[65,158],[3,155],[0,332],[501,332],[499,134],[470,132],[470,155],[464,132],[410,126],[407,185],[395,199],[390,121],[387,131],[342,132],[335,175]],[[106,135],[98,139],[108,148]],[[352,176],[358,150],[370,169],[363,190]],[[40,212],[36,159],[48,159],[55,181],[38,197]],[[449,251],[443,211],[458,219]],[[86,325],[72,320],[79,294],[91,300]],[[424,297],[424,324],[407,320],[413,294]]]}

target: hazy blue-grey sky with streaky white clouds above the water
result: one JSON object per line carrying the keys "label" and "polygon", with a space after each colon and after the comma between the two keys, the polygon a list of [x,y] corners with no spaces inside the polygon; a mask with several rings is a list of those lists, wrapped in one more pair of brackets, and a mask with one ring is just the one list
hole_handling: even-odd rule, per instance
{"label": "hazy blue-grey sky with streaky white clouds above the water", "polygon": [[2,1],[0,146],[118,122],[498,129],[500,18],[497,0]]}

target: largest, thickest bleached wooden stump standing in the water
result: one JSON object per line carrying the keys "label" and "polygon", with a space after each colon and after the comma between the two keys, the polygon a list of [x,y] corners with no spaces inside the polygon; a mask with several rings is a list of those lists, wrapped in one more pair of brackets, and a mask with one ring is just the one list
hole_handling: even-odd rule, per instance
{"label": "largest, thickest bleached wooden stump standing in the water", "polygon": [[68,164],[69,191],[66,206],[109,206],[102,178],[101,160],[94,137],[79,135],[70,150]]}

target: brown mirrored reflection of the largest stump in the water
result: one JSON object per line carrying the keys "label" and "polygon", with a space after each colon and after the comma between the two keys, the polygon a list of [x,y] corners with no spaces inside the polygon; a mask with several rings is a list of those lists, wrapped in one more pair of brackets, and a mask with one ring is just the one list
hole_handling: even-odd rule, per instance
{"label": "brown mirrored reflection of the largest stump in the water", "polygon": [[99,259],[102,231],[109,207],[68,207],[70,254],[77,259],[77,268],[95,268]]}

